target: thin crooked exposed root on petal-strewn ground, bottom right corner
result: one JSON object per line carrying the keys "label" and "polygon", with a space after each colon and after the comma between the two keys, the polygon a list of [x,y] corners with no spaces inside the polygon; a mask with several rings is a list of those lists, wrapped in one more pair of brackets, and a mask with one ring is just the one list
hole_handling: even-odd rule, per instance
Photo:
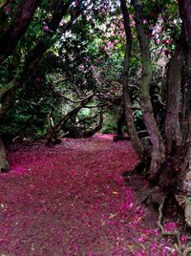
{"label": "thin crooked exposed root on petal-strewn ground, bottom right corner", "polygon": [[159,219],[158,219],[159,229],[161,230],[162,236],[174,236],[177,240],[177,244],[175,245],[175,247],[176,247],[178,254],[180,256],[187,256],[188,253],[191,252],[191,246],[186,245],[185,248],[183,248],[183,246],[181,245],[181,242],[180,242],[180,231],[175,230],[172,232],[168,232],[168,231],[165,231],[162,226],[162,218],[163,218],[162,209],[163,209],[163,205],[165,203],[165,199],[166,199],[166,197],[163,197],[161,200],[161,203],[159,205]]}

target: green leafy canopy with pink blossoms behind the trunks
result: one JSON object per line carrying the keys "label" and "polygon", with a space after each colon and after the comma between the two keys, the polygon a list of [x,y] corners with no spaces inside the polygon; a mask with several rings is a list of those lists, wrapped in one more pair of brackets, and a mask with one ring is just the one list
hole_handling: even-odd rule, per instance
{"label": "green leafy canopy with pink blossoms behind the trunks", "polygon": [[[74,26],[62,34],[64,24],[75,11],[75,1],[60,22],[56,31],[47,27],[53,18],[56,1],[41,1],[35,11],[32,22],[25,36],[19,40],[14,52],[4,61],[0,69],[0,88],[12,80],[22,80],[23,87],[16,90],[15,102],[0,128],[0,134],[14,138],[18,135],[36,137],[50,129],[47,119],[53,117],[54,123],[80,104],[80,100],[95,93],[89,109],[82,109],[66,124],[70,129],[74,122],[84,120],[84,127],[96,124],[94,117],[104,111],[102,132],[117,131],[118,113],[121,112],[121,73],[125,51],[123,21],[117,1],[95,1],[87,11],[83,11],[74,22]],[[82,5],[87,1],[81,1]],[[164,66],[175,48],[175,40],[180,35],[180,18],[176,1],[142,1],[144,7],[145,30],[150,43],[154,79],[151,85],[152,100],[159,96],[165,102],[161,76],[163,67],[159,60],[164,59]],[[65,3],[65,1],[63,1]],[[11,1],[11,11],[0,11],[0,24],[8,30],[18,1]],[[128,3],[129,5],[129,3]],[[138,85],[141,78],[138,36],[135,28],[134,11],[129,5],[130,23],[133,33],[133,49],[130,67],[130,95],[135,107],[134,117],[138,129],[142,125],[139,108]],[[6,21],[6,22],[4,22]],[[172,29],[173,27],[173,29]],[[50,40],[53,37],[54,44]],[[56,41],[56,38],[59,40]],[[26,62],[29,53],[43,39],[50,44],[49,50],[25,77]],[[163,65],[163,64],[162,64]],[[155,100],[152,101],[155,108]],[[93,106],[97,106],[95,109]]]}

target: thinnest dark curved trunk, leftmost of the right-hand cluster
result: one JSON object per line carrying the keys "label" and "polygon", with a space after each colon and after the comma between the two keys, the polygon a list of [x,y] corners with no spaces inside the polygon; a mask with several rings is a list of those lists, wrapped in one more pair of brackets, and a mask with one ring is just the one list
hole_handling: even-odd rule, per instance
{"label": "thinnest dark curved trunk, leftmost of the right-hand cluster", "polygon": [[124,57],[123,74],[122,74],[122,89],[123,89],[123,101],[124,101],[124,108],[125,108],[125,119],[126,119],[126,125],[128,127],[130,139],[134,145],[134,148],[138,153],[138,157],[140,159],[143,159],[144,149],[140,139],[138,138],[138,133],[137,133],[136,125],[134,122],[134,117],[133,117],[132,103],[131,103],[130,94],[129,94],[129,66],[130,66],[130,57],[131,57],[131,51],[132,51],[132,33],[130,28],[129,12],[128,12],[125,0],[120,0],[120,8],[123,15],[125,35],[126,35],[125,57]]}

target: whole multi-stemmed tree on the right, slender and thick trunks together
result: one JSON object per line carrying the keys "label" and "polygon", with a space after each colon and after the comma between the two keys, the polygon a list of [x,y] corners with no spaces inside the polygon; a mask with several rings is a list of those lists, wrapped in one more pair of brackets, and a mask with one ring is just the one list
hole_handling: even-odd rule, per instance
{"label": "whole multi-stemmed tree on the right, slender and thick trunks together", "polygon": [[[125,102],[126,120],[129,126],[130,137],[138,151],[140,159],[144,162],[144,167],[148,169],[151,181],[159,182],[162,189],[166,192],[176,194],[176,199],[184,207],[185,221],[191,225],[190,215],[190,122],[189,111],[189,83],[190,83],[190,60],[189,60],[189,18],[188,2],[180,1],[179,6],[176,2],[171,3],[170,9],[180,12],[180,17],[170,17],[168,19],[168,34],[171,33],[172,38],[168,39],[168,45],[171,46],[174,40],[174,48],[170,52],[167,49],[162,51],[164,55],[169,57],[166,69],[166,78],[164,85],[166,86],[163,100],[164,116],[160,120],[160,125],[155,113],[155,102],[152,100],[152,83],[155,79],[153,70],[152,53],[153,39],[155,44],[167,46],[167,40],[162,38],[159,41],[158,30],[165,31],[162,26],[165,25],[165,12],[155,13],[153,24],[145,26],[143,10],[144,5],[140,1],[132,1],[135,11],[135,26],[138,36],[140,59],[141,59],[141,81],[139,83],[139,105],[144,119],[144,123],[151,141],[151,150],[145,148],[140,139],[136,135],[136,129],[132,116],[132,102],[128,92],[129,83],[129,67],[131,66],[130,55],[132,53],[132,26],[128,8],[125,1],[121,0],[121,11],[123,13],[124,27],[126,32],[126,55],[124,59],[124,75],[123,75],[123,97]],[[165,7],[165,3],[163,3]],[[130,7],[129,7],[130,8]],[[179,9],[178,9],[179,8]],[[175,14],[175,12],[173,12]],[[180,21],[181,18],[181,21]],[[170,23],[178,26],[178,32],[169,30]],[[158,30],[156,25],[158,25]],[[151,26],[152,25],[152,26]],[[171,27],[171,30],[174,28]],[[176,31],[175,30],[175,31]],[[174,34],[173,34],[174,33]],[[173,37],[174,35],[174,37]],[[164,35],[169,36],[169,35]],[[163,36],[163,37],[164,37]],[[158,46],[158,51],[159,51]],[[187,58],[186,58],[187,53]],[[167,63],[167,62],[166,62]],[[162,77],[161,77],[162,78]],[[160,92],[160,96],[161,92]],[[158,113],[159,114],[159,113]]]}

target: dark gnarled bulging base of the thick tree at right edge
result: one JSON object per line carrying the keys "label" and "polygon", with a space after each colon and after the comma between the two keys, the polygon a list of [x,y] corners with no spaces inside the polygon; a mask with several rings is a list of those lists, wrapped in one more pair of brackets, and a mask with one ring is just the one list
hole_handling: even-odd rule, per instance
{"label": "dark gnarled bulging base of the thick tree at right edge", "polygon": [[177,146],[162,164],[159,184],[166,193],[175,195],[184,210],[185,223],[191,226],[191,140]]}

